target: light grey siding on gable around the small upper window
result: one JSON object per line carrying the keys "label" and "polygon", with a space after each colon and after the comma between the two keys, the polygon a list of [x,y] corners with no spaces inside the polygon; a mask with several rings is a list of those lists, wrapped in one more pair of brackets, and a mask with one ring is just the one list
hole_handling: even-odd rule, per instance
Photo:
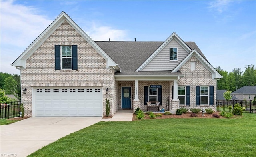
{"label": "light grey siding on gable around the small upper window", "polygon": [[[178,61],[170,61],[170,48],[178,49]],[[187,55],[188,52],[173,39],[143,68],[142,71],[172,70]]]}

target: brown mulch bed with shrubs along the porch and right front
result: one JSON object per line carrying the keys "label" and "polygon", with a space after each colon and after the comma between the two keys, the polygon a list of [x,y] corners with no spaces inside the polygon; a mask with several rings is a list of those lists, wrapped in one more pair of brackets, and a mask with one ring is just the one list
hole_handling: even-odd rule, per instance
{"label": "brown mulch bed with shrubs along the porch and right front", "polygon": [[[188,112],[186,114],[182,114],[182,115],[176,115],[176,114],[164,115],[163,113],[161,113],[161,114],[162,114],[162,117],[156,117],[155,119],[167,119],[167,118],[213,118],[212,114],[207,114],[207,113],[204,113],[204,116],[202,116],[202,112],[197,114],[198,117],[190,117],[190,114],[191,114],[190,112]],[[214,112],[213,114],[220,115],[220,112]],[[225,118],[225,117],[220,116],[220,118]],[[144,119],[150,119],[150,118],[149,118],[149,116],[147,114],[145,114]],[[133,115],[132,121],[138,121],[136,119],[136,115],[135,114]]]}

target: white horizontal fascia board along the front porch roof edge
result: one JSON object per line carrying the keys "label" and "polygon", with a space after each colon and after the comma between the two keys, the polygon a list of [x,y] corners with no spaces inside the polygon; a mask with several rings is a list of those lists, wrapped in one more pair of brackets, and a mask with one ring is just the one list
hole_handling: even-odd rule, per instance
{"label": "white horizontal fascia board along the front porch roof edge", "polygon": [[170,75],[163,75],[163,76],[159,76],[159,75],[117,75],[115,76],[115,80],[116,81],[134,81],[134,80],[138,80],[138,81],[174,81],[177,80],[178,77],[184,77],[184,75],[180,76],[170,76]]}

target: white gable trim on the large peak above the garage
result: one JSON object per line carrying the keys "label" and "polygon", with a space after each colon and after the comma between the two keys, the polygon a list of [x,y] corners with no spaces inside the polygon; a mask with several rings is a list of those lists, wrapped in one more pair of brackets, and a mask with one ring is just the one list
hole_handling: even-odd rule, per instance
{"label": "white gable trim on the large peak above the garage", "polygon": [[61,12],[11,65],[26,68],[26,60],[65,20],[107,61],[107,66],[118,68],[118,65],[65,12]]}

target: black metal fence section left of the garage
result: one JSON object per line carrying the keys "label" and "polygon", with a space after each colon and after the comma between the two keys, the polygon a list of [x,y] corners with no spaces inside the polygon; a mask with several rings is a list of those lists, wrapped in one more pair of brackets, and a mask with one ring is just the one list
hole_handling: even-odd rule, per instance
{"label": "black metal fence section left of the garage", "polygon": [[19,117],[21,113],[21,102],[1,103],[0,119]]}

